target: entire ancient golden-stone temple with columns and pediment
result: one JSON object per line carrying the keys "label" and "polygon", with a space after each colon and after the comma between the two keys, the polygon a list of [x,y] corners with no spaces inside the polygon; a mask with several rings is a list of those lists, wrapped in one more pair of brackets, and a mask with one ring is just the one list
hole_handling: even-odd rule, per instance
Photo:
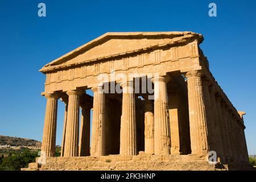
{"label": "entire ancient golden-stone temple with columns and pediment", "polygon": [[[203,40],[108,32],[46,64],[42,153],[27,169],[246,168],[245,113],[210,73]],[[65,115],[55,157],[58,101]]]}

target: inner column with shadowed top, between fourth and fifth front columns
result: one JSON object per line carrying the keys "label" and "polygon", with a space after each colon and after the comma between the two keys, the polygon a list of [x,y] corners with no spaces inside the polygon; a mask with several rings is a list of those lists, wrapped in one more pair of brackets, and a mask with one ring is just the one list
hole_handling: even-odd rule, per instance
{"label": "inner column with shadowed top, between fourth and fifth front columns", "polygon": [[152,100],[146,100],[144,126],[145,154],[154,154],[154,114]]}

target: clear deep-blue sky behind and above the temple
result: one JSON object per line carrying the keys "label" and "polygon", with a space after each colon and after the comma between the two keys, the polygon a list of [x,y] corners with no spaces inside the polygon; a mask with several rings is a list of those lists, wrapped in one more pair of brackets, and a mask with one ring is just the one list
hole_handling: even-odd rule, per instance
{"label": "clear deep-blue sky behind and above the temple", "polygon": [[[46,4],[46,17],[38,4]],[[208,5],[217,5],[217,17]],[[44,64],[105,32],[193,31],[210,70],[237,110],[246,111],[249,154],[256,154],[256,1],[0,0],[0,135],[42,140]],[[57,144],[64,105],[59,102]]]}

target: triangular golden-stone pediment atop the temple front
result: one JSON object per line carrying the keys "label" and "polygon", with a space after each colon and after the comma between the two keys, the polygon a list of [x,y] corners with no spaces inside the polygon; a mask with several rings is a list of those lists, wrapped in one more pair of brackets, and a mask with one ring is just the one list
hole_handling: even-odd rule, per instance
{"label": "triangular golden-stone pediment atop the temple front", "polygon": [[193,32],[108,32],[44,65],[40,71],[99,60],[102,57],[124,55],[148,47],[191,39],[194,36],[203,41],[203,36]]}

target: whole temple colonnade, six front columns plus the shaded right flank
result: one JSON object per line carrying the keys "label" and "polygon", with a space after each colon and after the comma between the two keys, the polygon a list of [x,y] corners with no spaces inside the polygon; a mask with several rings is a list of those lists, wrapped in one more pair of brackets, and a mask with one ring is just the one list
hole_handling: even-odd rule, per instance
{"label": "whole temple colonnade, six front columns plus the shaded right flank", "polygon": [[[188,85],[189,126],[192,154],[208,154],[217,151],[219,156],[237,158],[238,151],[246,154],[244,132],[239,119],[232,115],[224,99],[216,97],[210,83],[202,80],[200,71],[185,74]],[[169,76],[152,78],[154,83],[154,114],[152,109],[145,113],[145,152],[147,154],[168,155],[171,148],[170,116],[168,112],[167,82]],[[122,117],[120,132],[120,154],[137,155],[135,93],[132,81],[122,82]],[[67,92],[68,101],[64,101],[65,119],[61,156],[101,156],[105,155],[105,93],[101,86],[92,88],[93,125],[92,143],[89,149],[90,108],[82,107],[79,139],[80,97],[83,90]],[[42,151],[46,156],[54,156],[56,140],[57,99],[56,94],[47,94],[46,118]],[[147,106],[146,106],[147,108]],[[87,135],[87,137],[84,137]],[[239,139],[237,140],[236,138]],[[240,142],[239,142],[240,141]],[[79,144],[80,142],[80,144]],[[243,148],[240,148],[240,147]],[[89,151],[90,150],[90,151]],[[241,160],[246,160],[240,157]]]}

